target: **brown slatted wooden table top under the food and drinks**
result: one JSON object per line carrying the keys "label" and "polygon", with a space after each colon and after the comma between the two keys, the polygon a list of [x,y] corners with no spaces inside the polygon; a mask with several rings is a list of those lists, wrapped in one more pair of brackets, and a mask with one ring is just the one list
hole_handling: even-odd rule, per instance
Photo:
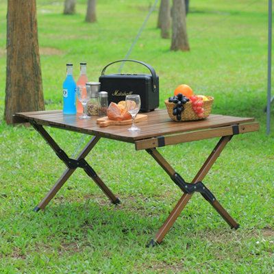
{"label": "brown slatted wooden table top under the food and drinks", "polygon": [[[208,118],[199,121],[175,122],[169,118],[169,114],[165,109],[157,109],[145,114],[147,114],[147,121],[137,123],[141,130],[134,133],[127,131],[131,125],[109,125],[108,127],[99,127],[99,125],[97,125],[98,116],[91,116],[91,119],[82,120],[78,119],[80,114],[63,114],[62,110],[18,112],[14,114],[14,123],[35,121],[39,125],[58,127],[60,129],[82,132],[84,134],[125,142],[136,142],[147,138],[155,138],[157,136],[181,134],[201,129],[216,129],[218,127],[254,121],[253,118],[248,117],[243,118],[210,114]],[[253,127],[253,130],[250,131],[255,130],[258,130],[258,123],[256,123],[256,127]],[[210,136],[208,138],[210,138]]]}

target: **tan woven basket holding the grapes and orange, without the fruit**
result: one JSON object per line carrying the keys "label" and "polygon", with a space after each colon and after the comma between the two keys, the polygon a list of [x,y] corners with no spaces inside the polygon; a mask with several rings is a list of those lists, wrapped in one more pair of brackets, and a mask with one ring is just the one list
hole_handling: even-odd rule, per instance
{"label": "tan woven basket holding the grapes and orange, without the fruit", "polygon": [[[212,103],[214,101],[214,98],[211,96],[206,96],[208,98],[207,101],[203,101],[202,108],[205,110],[203,112],[203,117],[199,117],[194,110],[192,110],[192,101],[189,101],[184,104],[184,111],[181,113],[181,120],[179,121],[195,121],[195,120],[201,120],[208,117],[208,115],[211,112]],[[177,117],[172,114],[173,108],[175,106],[175,103],[169,103],[169,99],[164,100],[164,103],[166,104],[166,110],[169,113],[169,117],[173,119],[174,121],[177,121]]]}

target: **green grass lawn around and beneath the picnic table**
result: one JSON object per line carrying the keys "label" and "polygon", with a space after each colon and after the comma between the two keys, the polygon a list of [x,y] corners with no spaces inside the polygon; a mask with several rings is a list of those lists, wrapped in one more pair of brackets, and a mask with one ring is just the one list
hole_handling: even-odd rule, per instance
{"label": "green grass lawn around and beneath the picnic table", "polygon": [[[86,1],[64,16],[63,1],[37,0],[40,62],[46,109],[62,108],[66,62],[88,62],[97,81],[103,67],[125,55],[152,0],[97,1],[98,21],[84,22]],[[190,52],[171,52],[151,14],[130,59],[151,64],[160,77],[160,108],[177,85],[212,95],[214,114],[253,116],[260,132],[234,136],[204,183],[238,223],[232,230],[201,198],[192,199],[162,244],[145,245],[182,195],[145,151],[100,140],[87,157],[121,199],[110,205],[86,173],[75,171],[45,212],[32,212],[65,170],[31,127],[7,126],[6,1],[0,1],[0,273],[274,273],[274,117],[266,136],[267,2],[190,1]],[[158,4],[159,6],[159,4]],[[107,73],[119,68],[113,65]],[[127,64],[125,72],[145,72]],[[82,135],[49,128],[69,155]],[[214,148],[202,140],[159,149],[186,181]]]}

